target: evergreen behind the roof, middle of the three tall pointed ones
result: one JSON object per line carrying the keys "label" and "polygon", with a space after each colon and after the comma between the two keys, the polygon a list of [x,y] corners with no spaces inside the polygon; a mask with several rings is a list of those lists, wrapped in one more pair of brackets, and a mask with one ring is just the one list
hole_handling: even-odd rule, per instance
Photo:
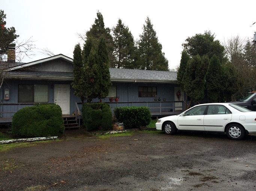
{"label": "evergreen behind the roof, middle of the three tall pointed ones", "polygon": [[115,68],[131,68],[135,45],[133,35],[129,28],[125,26],[121,19],[118,19],[117,25],[112,28],[115,56]]}

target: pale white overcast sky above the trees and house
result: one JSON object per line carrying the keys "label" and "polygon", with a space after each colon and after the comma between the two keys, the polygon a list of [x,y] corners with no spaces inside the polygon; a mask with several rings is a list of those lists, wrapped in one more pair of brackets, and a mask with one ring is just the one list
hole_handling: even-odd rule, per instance
{"label": "pale white overcast sky above the trees and house", "polygon": [[[32,37],[36,48],[73,58],[77,33],[88,31],[99,10],[105,27],[112,28],[120,18],[135,40],[142,34],[147,16],[156,31],[169,68],[180,64],[181,44],[187,37],[210,30],[222,43],[231,37],[253,38],[256,31],[255,0],[0,0],[6,14],[6,27],[15,27],[19,41]],[[252,26],[251,26],[252,25]],[[32,62],[47,56],[24,58]]]}

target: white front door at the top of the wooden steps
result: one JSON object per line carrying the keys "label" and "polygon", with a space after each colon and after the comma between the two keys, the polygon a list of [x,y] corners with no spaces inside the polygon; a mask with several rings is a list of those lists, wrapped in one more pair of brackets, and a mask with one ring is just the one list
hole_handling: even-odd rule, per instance
{"label": "white front door at the top of the wooden steps", "polygon": [[55,89],[55,104],[58,104],[62,110],[62,114],[69,114],[69,85],[57,85]]}

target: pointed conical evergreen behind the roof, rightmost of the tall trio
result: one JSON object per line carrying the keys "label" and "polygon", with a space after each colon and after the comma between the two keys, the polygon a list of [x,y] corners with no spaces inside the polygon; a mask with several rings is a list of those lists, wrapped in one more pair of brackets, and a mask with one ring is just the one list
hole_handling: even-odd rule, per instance
{"label": "pointed conical evergreen behind the roof, rightmost of the tall trio", "polygon": [[148,17],[146,25],[143,25],[143,33],[139,37],[137,42],[139,58],[136,59],[136,68],[169,71],[168,60],[165,58],[165,53],[162,52],[162,44],[158,42],[156,31]]}

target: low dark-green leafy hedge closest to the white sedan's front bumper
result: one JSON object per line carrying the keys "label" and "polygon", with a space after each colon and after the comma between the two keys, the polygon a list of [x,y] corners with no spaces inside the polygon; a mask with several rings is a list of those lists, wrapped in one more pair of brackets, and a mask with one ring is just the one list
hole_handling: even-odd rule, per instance
{"label": "low dark-green leafy hedge closest to the white sedan's front bumper", "polygon": [[151,121],[149,107],[115,107],[115,117],[119,122],[123,122],[126,129],[146,126]]}

